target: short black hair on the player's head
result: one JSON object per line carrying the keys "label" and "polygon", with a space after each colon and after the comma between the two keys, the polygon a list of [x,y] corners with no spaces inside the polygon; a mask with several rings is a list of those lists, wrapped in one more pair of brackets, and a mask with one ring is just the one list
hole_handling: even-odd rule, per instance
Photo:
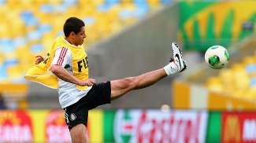
{"label": "short black hair on the player's head", "polygon": [[84,27],[85,24],[83,20],[80,20],[76,17],[70,17],[68,20],[65,21],[65,24],[63,26],[63,31],[65,37],[68,37],[69,34],[73,31],[75,34],[80,32],[81,27]]}

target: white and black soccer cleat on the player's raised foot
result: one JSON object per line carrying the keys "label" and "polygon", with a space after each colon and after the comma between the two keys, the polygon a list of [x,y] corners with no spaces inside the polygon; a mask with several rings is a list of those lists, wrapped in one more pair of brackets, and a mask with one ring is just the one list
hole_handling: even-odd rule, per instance
{"label": "white and black soccer cleat on the player's raised foot", "polygon": [[176,72],[184,72],[187,69],[186,61],[184,61],[182,57],[182,52],[176,42],[172,43],[173,46],[173,57],[171,58],[170,62],[176,64]]}

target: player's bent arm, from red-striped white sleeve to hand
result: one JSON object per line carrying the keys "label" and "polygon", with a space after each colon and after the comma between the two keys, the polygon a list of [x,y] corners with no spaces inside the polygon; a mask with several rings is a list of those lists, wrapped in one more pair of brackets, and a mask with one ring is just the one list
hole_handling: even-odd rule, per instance
{"label": "player's bent arm, from red-striped white sleeve to hand", "polygon": [[65,65],[72,65],[72,53],[69,49],[62,47],[56,49],[54,59],[51,65],[51,72],[54,73],[59,79],[62,79],[69,83],[74,83],[79,86],[93,86],[95,85],[95,79],[80,80],[70,74],[64,67]]}

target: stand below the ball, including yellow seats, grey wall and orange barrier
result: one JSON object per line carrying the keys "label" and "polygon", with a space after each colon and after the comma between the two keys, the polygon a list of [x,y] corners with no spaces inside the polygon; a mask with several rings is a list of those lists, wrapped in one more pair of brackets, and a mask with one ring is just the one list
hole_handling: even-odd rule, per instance
{"label": "stand below the ball, including yellow seats, grey wall and orange barrier", "polygon": [[[193,101],[193,97],[199,96],[199,93],[193,94],[193,90],[198,88],[196,86],[201,86],[206,90],[206,94],[203,95],[206,101],[201,101],[205,106],[197,106],[197,108],[224,110],[230,109],[228,105],[235,104],[235,109],[254,110],[256,100],[255,36],[251,35],[228,48],[230,61],[227,67],[213,70],[207,67],[205,61],[202,61],[202,64],[196,66],[190,74],[176,79],[174,108],[193,108],[192,103],[184,105],[181,101],[189,99]],[[178,92],[181,89],[184,90],[183,93]],[[180,94],[183,94],[184,99],[179,98]]]}

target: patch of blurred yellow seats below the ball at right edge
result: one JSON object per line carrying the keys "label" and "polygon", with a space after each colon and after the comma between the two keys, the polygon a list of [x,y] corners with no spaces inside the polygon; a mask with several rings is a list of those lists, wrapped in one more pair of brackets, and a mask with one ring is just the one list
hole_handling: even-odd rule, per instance
{"label": "patch of blurred yellow seats below the ball at right edge", "polygon": [[232,64],[231,68],[223,69],[216,77],[206,80],[210,90],[217,90],[233,97],[255,100],[255,54],[243,57],[239,63]]}

